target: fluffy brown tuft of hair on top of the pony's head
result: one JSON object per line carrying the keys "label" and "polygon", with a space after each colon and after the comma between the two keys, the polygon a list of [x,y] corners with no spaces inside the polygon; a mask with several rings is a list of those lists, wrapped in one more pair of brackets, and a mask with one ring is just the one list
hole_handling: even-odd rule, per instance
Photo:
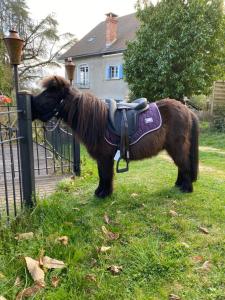
{"label": "fluffy brown tuft of hair on top of the pony's head", "polygon": [[42,87],[50,91],[66,91],[70,88],[70,83],[61,76],[50,76],[42,81]]}

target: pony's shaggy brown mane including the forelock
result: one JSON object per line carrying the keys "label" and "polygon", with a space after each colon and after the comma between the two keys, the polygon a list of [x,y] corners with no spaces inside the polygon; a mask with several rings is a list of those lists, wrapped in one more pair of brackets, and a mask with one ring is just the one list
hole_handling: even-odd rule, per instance
{"label": "pony's shaggy brown mane including the forelock", "polygon": [[60,76],[45,78],[42,86],[49,92],[63,95],[62,115],[66,115],[67,123],[84,144],[94,150],[104,139],[108,114],[106,104],[90,93],[71,88],[70,83]]}

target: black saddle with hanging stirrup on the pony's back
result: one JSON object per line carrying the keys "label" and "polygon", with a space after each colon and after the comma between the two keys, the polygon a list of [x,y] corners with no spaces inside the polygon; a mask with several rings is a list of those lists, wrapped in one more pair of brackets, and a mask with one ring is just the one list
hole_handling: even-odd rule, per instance
{"label": "black saddle with hanging stirrup on the pony's back", "polygon": [[[129,169],[130,160],[129,139],[137,130],[138,115],[148,109],[148,101],[146,98],[139,98],[131,103],[113,99],[105,99],[105,102],[108,106],[109,130],[120,137],[116,171],[117,173],[126,172]],[[126,162],[125,168],[119,167],[122,159]]]}

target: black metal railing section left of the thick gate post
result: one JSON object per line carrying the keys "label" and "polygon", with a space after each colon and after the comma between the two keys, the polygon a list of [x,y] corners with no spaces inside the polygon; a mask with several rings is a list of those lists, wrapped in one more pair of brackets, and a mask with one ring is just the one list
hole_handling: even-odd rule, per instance
{"label": "black metal railing section left of the thick gate post", "polygon": [[23,207],[22,174],[15,106],[0,106],[0,219],[16,216]]}

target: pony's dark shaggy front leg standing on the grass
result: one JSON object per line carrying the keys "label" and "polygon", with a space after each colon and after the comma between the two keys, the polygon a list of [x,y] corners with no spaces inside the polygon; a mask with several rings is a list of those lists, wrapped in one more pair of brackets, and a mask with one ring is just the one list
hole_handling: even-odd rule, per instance
{"label": "pony's dark shaggy front leg standing on the grass", "polygon": [[99,185],[95,190],[95,195],[99,198],[105,198],[113,191],[113,164],[114,160],[107,157],[97,161]]}

